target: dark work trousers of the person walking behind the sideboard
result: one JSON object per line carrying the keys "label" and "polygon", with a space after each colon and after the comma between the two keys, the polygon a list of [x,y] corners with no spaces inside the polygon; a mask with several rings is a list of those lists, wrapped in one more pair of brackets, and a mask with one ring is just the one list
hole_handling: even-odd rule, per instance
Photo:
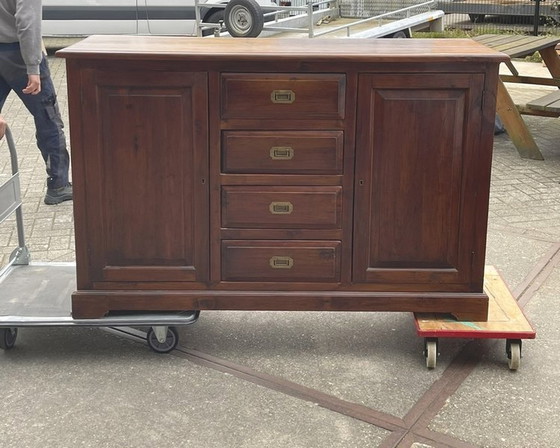
{"label": "dark work trousers of the person walking behind the sideboard", "polygon": [[41,92],[37,95],[23,93],[28,78],[19,44],[0,43],[0,112],[8,94],[13,90],[35,119],[37,146],[47,167],[47,187],[59,188],[68,184],[69,155],[63,131],[64,124],[44,55],[40,72]]}

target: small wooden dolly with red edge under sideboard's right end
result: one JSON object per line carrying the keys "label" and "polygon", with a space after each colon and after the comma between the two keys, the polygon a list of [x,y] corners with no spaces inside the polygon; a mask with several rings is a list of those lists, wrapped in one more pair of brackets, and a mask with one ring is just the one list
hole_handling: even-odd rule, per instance
{"label": "small wooden dolly with red edge under sideboard's right end", "polygon": [[536,331],[493,266],[485,269],[484,290],[490,300],[487,322],[458,321],[446,314],[414,314],[418,336],[424,338],[428,368],[436,367],[439,338],[505,339],[509,368],[519,368],[521,340],[534,339]]}

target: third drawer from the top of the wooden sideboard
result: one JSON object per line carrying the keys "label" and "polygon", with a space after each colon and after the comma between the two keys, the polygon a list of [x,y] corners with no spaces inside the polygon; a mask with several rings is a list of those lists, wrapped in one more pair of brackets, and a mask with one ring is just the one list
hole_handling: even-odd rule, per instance
{"label": "third drawer from the top of the wooden sideboard", "polygon": [[339,229],[342,187],[222,188],[222,227]]}

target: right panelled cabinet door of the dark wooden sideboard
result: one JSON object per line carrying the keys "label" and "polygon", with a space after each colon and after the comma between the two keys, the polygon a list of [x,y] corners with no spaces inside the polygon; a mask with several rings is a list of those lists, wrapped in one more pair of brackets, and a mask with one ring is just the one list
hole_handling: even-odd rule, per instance
{"label": "right panelled cabinet door of the dark wooden sideboard", "polygon": [[489,170],[477,159],[491,151],[480,146],[483,83],[481,74],[360,77],[355,282],[469,288],[487,218],[477,215]]}

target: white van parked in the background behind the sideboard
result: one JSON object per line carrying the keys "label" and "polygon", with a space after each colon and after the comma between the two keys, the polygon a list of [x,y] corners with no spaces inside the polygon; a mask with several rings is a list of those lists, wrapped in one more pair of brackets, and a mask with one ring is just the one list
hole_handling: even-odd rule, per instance
{"label": "white van parked in the background behind the sideboard", "polygon": [[[203,22],[224,18],[224,8],[200,9]],[[194,0],[43,0],[43,36],[90,34],[196,35]]]}

